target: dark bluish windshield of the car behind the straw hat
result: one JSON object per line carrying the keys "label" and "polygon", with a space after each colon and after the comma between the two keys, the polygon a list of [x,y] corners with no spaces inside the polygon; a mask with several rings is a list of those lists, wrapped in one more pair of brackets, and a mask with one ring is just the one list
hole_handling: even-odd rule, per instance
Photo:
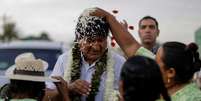
{"label": "dark bluish windshield of the car behind the straw hat", "polygon": [[14,64],[15,57],[24,52],[32,52],[36,58],[41,58],[48,62],[48,70],[52,70],[61,49],[0,49],[0,70],[6,70]]}

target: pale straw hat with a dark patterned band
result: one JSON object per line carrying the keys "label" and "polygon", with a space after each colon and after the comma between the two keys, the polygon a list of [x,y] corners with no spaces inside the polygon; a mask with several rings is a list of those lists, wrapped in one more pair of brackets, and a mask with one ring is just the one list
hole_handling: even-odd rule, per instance
{"label": "pale straw hat with a dark patterned band", "polygon": [[58,80],[45,77],[48,63],[41,59],[36,59],[32,53],[23,53],[15,58],[15,64],[6,70],[6,77],[15,80],[25,81],[52,81]]}

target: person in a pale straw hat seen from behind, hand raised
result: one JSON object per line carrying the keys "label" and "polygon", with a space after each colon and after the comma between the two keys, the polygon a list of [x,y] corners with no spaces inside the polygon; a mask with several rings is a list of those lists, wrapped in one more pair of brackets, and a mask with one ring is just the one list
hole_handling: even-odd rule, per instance
{"label": "person in a pale straw hat seen from behind, hand raised", "polygon": [[67,84],[60,77],[45,77],[44,73],[47,68],[48,63],[35,59],[32,53],[18,55],[15,64],[9,67],[5,73],[6,77],[10,79],[10,83],[2,88],[2,100],[42,101],[45,95],[45,81],[51,81],[57,85],[63,101],[69,101]]}

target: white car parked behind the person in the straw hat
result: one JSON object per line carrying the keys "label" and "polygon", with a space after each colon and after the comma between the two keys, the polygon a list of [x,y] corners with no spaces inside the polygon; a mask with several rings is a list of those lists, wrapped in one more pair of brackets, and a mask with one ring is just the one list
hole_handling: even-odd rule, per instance
{"label": "white car parked behind the person in the straw hat", "polygon": [[68,45],[62,42],[51,41],[20,41],[0,44],[0,87],[8,83],[8,78],[4,76],[7,68],[12,66],[15,57],[24,52],[32,52],[36,58],[41,58],[48,62],[48,76],[60,54],[68,50]]}

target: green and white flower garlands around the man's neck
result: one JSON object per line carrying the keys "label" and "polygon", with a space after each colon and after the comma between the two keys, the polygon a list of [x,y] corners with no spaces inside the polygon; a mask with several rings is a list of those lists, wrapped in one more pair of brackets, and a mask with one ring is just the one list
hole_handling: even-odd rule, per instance
{"label": "green and white flower garlands around the man's neck", "polygon": [[[73,49],[70,51],[72,56],[70,56],[67,63],[68,67],[64,72],[64,79],[67,82],[73,82],[80,78],[81,72],[81,54],[79,50],[79,45],[76,43]],[[111,59],[109,51],[106,51],[103,56],[100,58],[98,62],[95,64],[96,70],[92,74],[91,80],[91,91],[88,97],[86,98],[87,101],[95,101],[95,96],[98,92],[98,88],[100,85],[100,79],[103,72],[106,71],[107,79],[105,84],[105,93],[104,93],[104,101],[117,101],[117,94],[118,92],[115,91],[113,88],[114,83],[114,61]],[[81,101],[81,95],[75,94],[74,97],[71,99],[72,101]]]}

